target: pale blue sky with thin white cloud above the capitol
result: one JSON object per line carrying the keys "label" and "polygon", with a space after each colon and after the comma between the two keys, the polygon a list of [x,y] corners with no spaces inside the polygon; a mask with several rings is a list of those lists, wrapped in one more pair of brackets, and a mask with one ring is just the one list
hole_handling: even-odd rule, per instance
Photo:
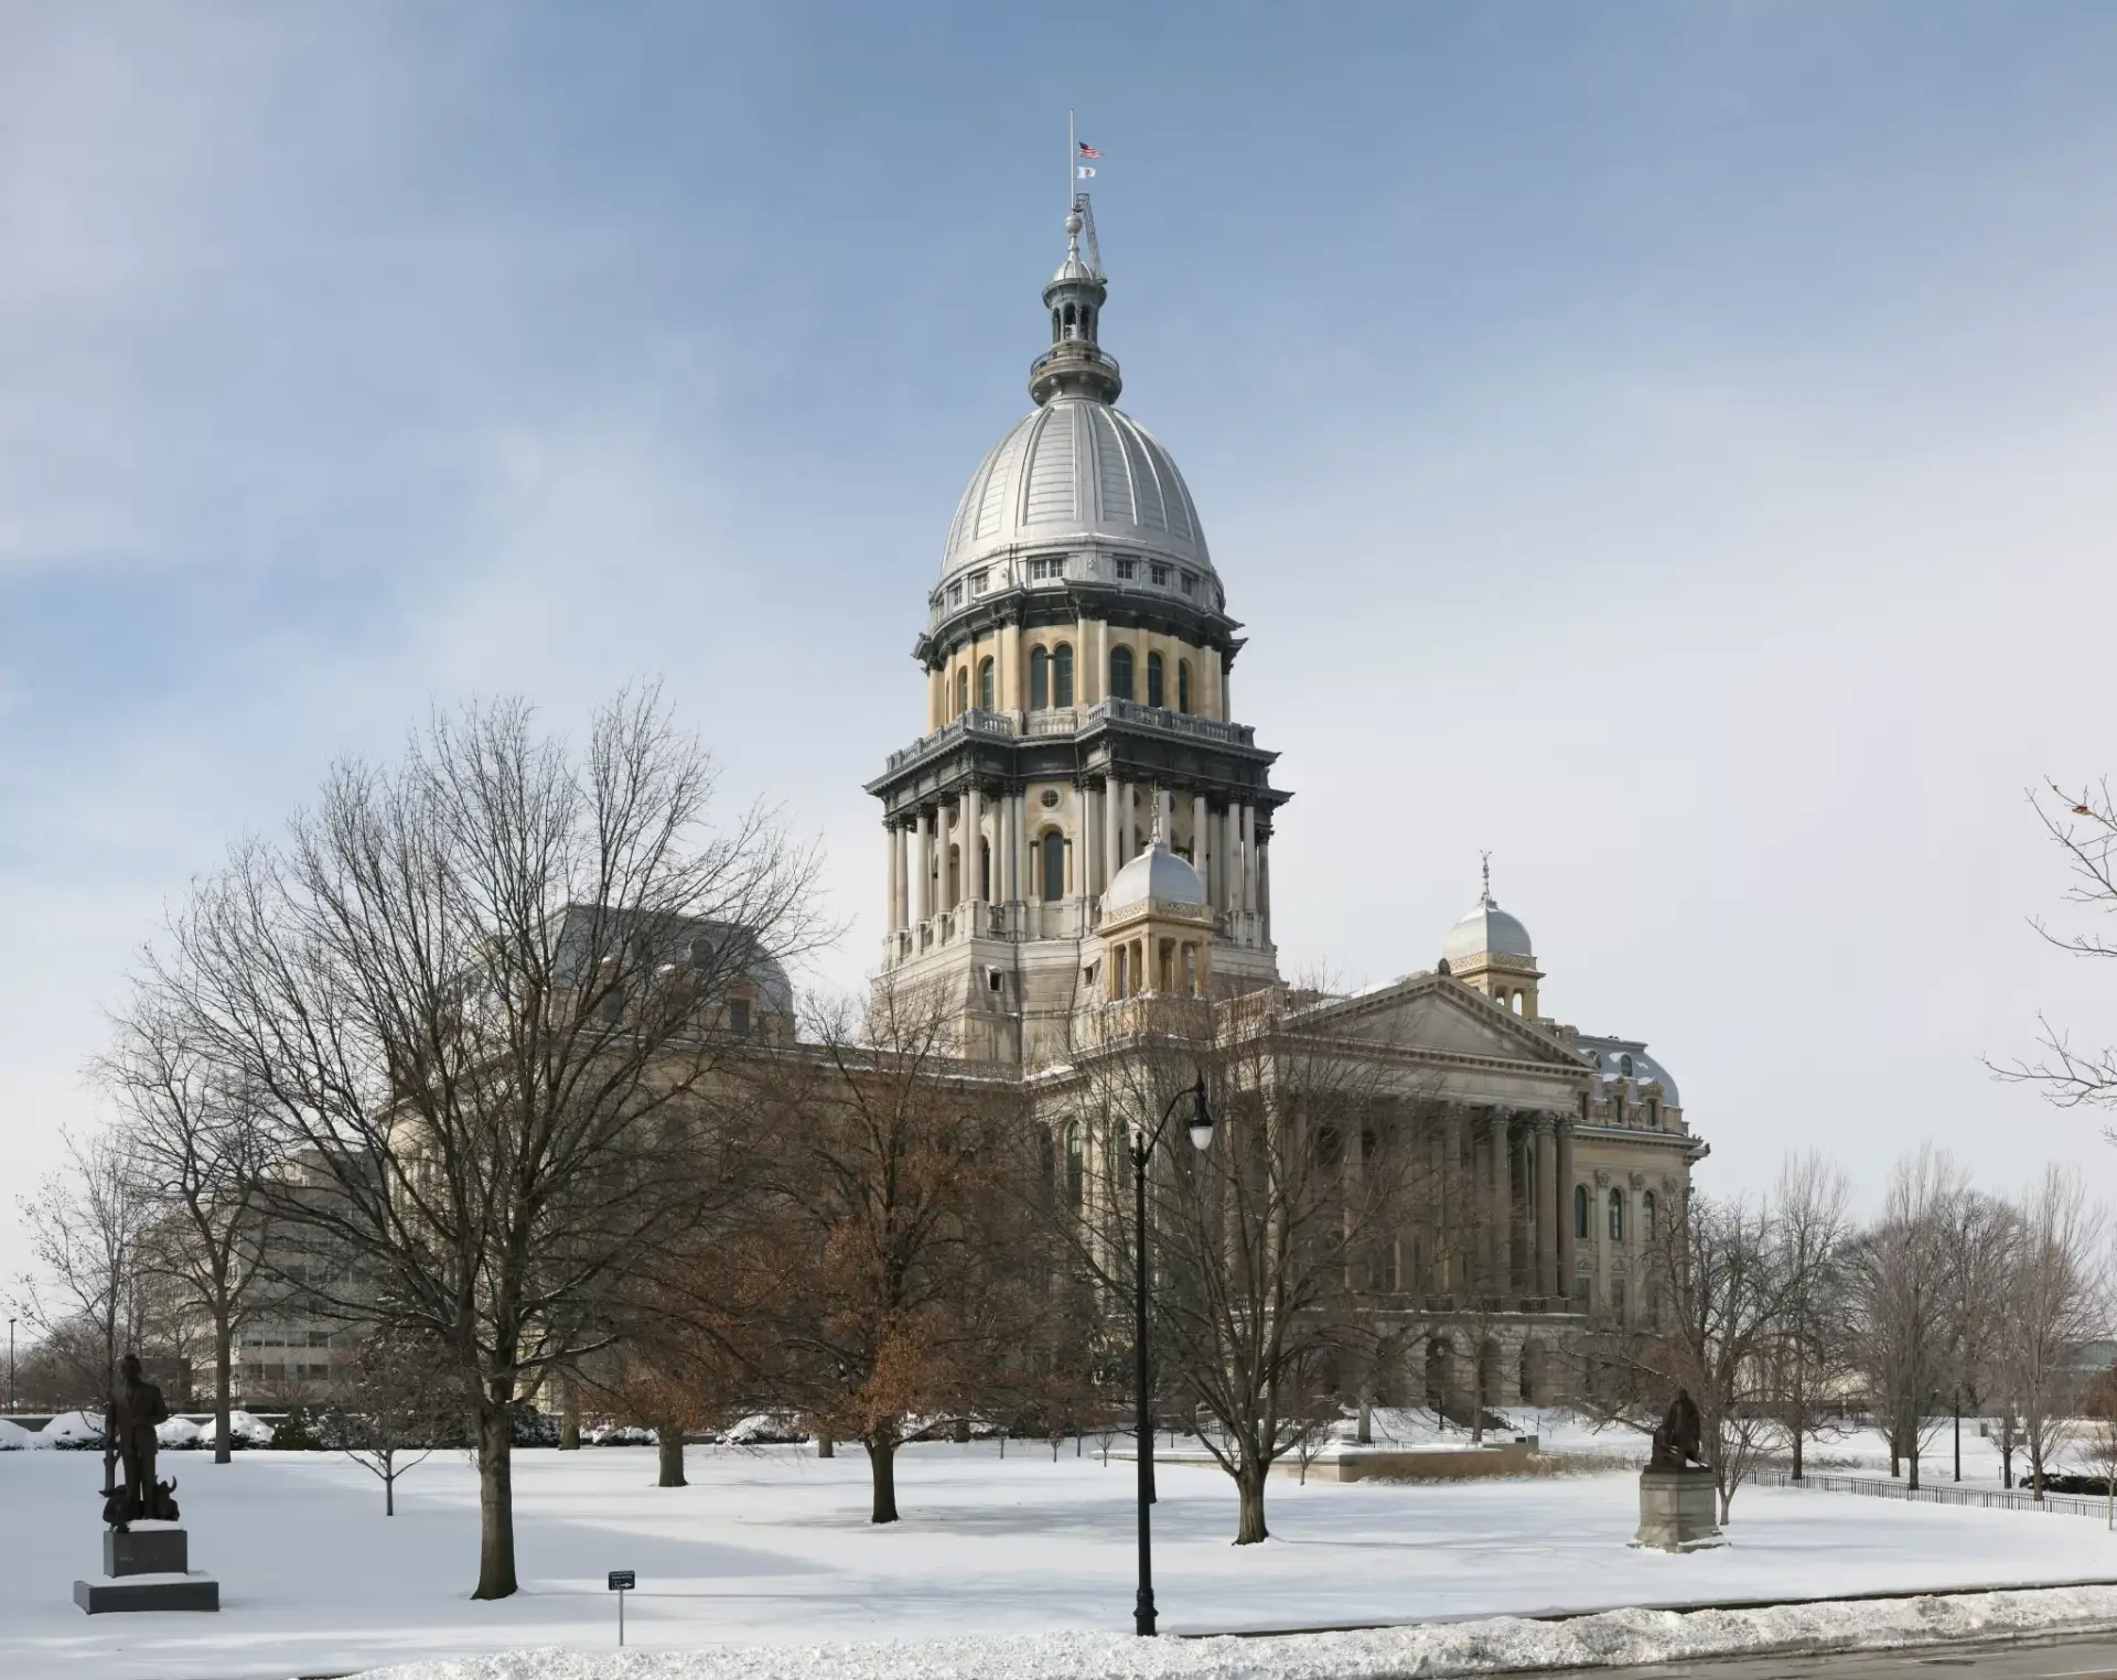
{"label": "pale blue sky with thin white cloud above the capitol", "polygon": [[1490,846],[1706,1183],[2106,1179],[1975,1058],[2117,1037],[2022,804],[2117,770],[2113,66],[2094,4],[0,0],[0,1159],[163,899],[432,700],[665,675],[857,980],[1078,106],[1287,965],[1429,967]]}

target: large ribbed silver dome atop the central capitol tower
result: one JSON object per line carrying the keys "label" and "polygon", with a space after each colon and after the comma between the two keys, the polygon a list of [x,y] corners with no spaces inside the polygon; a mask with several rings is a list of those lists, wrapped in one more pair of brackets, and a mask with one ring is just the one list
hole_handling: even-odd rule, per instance
{"label": "large ribbed silver dome atop the central capitol tower", "polygon": [[1056,396],[1016,421],[972,476],[942,576],[1020,548],[1080,544],[1213,569],[1198,508],[1154,434],[1105,402]]}

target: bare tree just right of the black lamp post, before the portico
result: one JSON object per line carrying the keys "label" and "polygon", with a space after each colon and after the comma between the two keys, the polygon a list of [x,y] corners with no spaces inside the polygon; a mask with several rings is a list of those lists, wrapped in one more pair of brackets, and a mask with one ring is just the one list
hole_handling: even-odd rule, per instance
{"label": "bare tree just right of the black lamp post, before the portico", "polygon": [[1075,1052],[1105,1183],[1101,1217],[1065,1229],[1120,1299],[1139,1286],[1133,1149],[1194,1079],[1222,1119],[1207,1151],[1175,1143],[1150,1159],[1150,1299],[1160,1371],[1234,1479],[1236,1545],[1268,1538],[1272,1462],[1368,1354],[1363,1305],[1397,1286],[1393,1238],[1429,1155],[1429,1081],[1372,1039],[1336,1037],[1332,1003],[1289,988],[1217,1007],[1128,999]]}

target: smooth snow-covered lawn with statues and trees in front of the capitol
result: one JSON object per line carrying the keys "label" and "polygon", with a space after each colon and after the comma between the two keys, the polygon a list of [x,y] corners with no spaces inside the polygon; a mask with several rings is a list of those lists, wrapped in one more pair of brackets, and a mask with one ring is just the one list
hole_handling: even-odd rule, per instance
{"label": "smooth snow-covered lawn with statues and trees in front of the capitol", "polygon": [[[1133,1471],[993,1443],[906,1449],[904,1521],[872,1528],[866,1462],[809,1447],[690,1451],[692,1485],[656,1490],[652,1449],[517,1456],[525,1591],[472,1604],[476,1481],[436,1456],[398,1490],[324,1454],[169,1454],[193,1566],[218,1617],[95,1617],[93,1454],[0,1454],[0,1674],[241,1680],[521,1646],[608,1646],[608,1570],[639,1591],[639,1646],[931,1640],[1122,1631],[1133,1608]],[[2081,1517],[1899,1506],[1747,1490],[1732,1545],[1694,1557],[1626,1547],[1628,1475],[1469,1483],[1274,1481],[1274,1538],[1230,1547],[1234,1492],[1169,1466],[1156,1513],[1166,1631],[1346,1625],[2117,1578],[2117,1536]]]}

